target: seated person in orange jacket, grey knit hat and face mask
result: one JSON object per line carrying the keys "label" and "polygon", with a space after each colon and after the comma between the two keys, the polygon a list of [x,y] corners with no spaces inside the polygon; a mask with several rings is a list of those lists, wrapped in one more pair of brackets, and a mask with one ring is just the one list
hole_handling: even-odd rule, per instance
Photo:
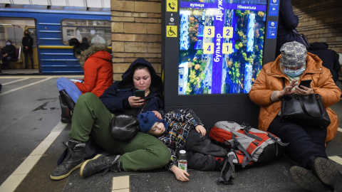
{"label": "seated person in orange jacket, grey knit hat and face mask", "polygon": [[[303,44],[285,43],[280,50],[281,55],[274,62],[262,67],[249,92],[249,98],[261,107],[259,129],[289,143],[286,156],[298,165],[291,167],[290,174],[299,186],[309,191],[330,191],[328,187],[342,191],[342,174],[326,155],[326,142],[333,139],[338,128],[337,116],[329,106],[340,100],[341,90],[321,59],[307,53]],[[309,79],[310,87],[298,87],[296,82]],[[308,122],[282,122],[281,97],[293,93],[321,95],[331,124],[322,129]]]}

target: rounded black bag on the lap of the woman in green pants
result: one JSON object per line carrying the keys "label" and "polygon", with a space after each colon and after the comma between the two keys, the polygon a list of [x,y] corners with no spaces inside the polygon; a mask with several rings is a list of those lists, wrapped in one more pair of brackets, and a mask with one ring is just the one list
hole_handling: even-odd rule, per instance
{"label": "rounded black bag on the lap of the woman in green pants", "polygon": [[138,133],[138,119],[120,114],[112,119],[110,132],[115,139],[128,142]]}

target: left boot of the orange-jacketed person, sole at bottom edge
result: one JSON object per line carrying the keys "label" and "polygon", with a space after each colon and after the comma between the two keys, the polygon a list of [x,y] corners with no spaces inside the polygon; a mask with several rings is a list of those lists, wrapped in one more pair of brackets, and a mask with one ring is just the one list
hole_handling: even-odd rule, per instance
{"label": "left boot of the orange-jacketed person, sole at bottom edge", "polygon": [[294,182],[301,188],[314,192],[331,192],[321,181],[308,169],[300,166],[292,166],[290,174]]}

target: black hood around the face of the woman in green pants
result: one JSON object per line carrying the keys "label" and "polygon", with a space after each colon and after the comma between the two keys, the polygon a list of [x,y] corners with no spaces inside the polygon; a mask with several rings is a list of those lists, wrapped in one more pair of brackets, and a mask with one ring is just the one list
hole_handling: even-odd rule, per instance
{"label": "black hood around the face of the woman in green pants", "polygon": [[130,67],[128,68],[128,70],[126,70],[125,73],[123,73],[123,75],[121,76],[123,80],[121,80],[118,83],[118,88],[134,87],[133,74],[134,74],[135,66],[137,65],[146,65],[147,68],[149,68],[150,73],[151,73],[150,74],[151,80],[152,80],[150,91],[155,92],[159,90],[161,93],[162,92],[162,78],[160,78],[160,76],[157,75],[157,73],[155,72],[155,68],[153,68],[151,63],[149,63],[144,58],[138,58],[135,61],[133,61],[132,64],[130,64]]}

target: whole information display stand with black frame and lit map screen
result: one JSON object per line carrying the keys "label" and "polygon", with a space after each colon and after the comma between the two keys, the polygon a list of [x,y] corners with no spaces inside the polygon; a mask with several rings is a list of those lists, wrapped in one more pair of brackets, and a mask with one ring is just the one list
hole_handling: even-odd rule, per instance
{"label": "whole information display stand with black frame and lit map screen", "polygon": [[274,60],[278,11],[279,0],[162,1],[165,109],[257,113],[248,92]]}

